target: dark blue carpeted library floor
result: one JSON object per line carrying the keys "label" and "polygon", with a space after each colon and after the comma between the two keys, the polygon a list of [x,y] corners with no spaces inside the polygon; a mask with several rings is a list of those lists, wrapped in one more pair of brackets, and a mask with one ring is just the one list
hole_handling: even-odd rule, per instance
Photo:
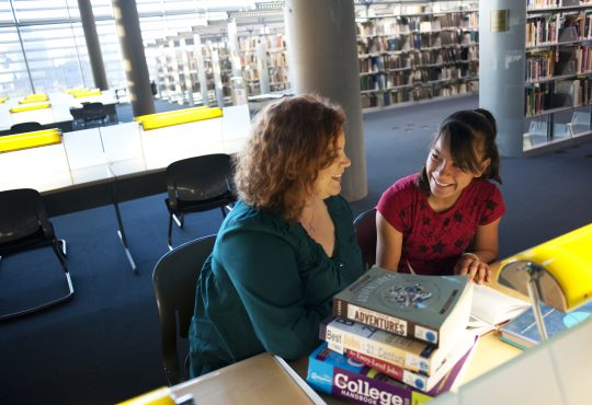
{"label": "dark blue carpeted library floor", "polygon": [[[160,104],[158,111],[177,107]],[[466,96],[365,115],[368,195],[352,202],[354,215],[421,167],[430,137],[447,114],[477,105],[477,96]],[[119,119],[130,120],[130,111],[119,106]],[[500,225],[501,257],[592,222],[592,142],[504,158],[501,167],[508,208]],[[47,312],[0,324],[0,404],[113,404],[166,384],[151,281],[155,264],[167,252],[163,199],[157,195],[121,205],[137,275],[119,244],[112,207],[52,218],[58,236],[68,241],[76,296]],[[184,229],[173,230],[173,242],[215,233],[220,221],[219,211],[187,216]],[[0,308],[13,291],[35,297],[42,289],[36,286],[59,282],[53,278],[59,271],[44,250],[3,257]]]}

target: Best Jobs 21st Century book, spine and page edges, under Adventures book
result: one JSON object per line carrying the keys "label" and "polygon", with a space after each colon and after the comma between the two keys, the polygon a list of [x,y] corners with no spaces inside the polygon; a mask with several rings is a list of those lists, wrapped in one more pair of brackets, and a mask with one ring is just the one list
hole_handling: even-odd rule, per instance
{"label": "Best Jobs 21st Century book, spine and page edges, under Adventures book", "polygon": [[437,348],[426,342],[334,316],[320,323],[319,337],[340,354],[353,350],[428,377],[439,370],[449,351],[468,350],[475,342],[475,334],[463,329],[449,348]]}

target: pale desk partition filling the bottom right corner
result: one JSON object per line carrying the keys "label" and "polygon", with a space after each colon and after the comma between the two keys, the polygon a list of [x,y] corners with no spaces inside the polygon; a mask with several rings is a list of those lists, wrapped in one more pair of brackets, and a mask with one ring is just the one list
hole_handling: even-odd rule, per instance
{"label": "pale desk partition filling the bottom right corner", "polygon": [[430,405],[589,404],[591,343],[589,317]]}

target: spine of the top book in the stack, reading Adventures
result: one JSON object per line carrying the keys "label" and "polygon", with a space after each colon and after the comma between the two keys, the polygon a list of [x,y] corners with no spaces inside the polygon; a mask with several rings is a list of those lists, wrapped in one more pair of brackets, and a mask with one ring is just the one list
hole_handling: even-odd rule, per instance
{"label": "spine of the top book in the stack, reading Adventures", "polygon": [[437,345],[439,342],[437,331],[367,308],[358,306],[339,298],[333,299],[333,315],[345,317],[405,337],[415,338],[435,345]]}

